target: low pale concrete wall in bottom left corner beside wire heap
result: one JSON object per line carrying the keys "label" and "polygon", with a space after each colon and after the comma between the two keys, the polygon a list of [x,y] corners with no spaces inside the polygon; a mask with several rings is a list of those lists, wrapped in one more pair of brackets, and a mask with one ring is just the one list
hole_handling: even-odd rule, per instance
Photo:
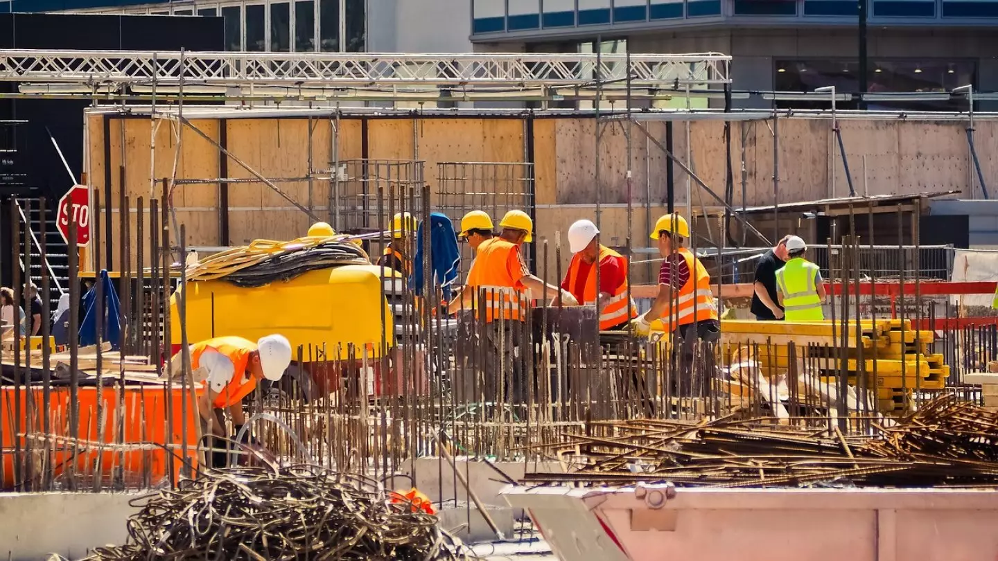
{"label": "low pale concrete wall in bottom left corner beside wire heap", "polygon": [[0,558],[38,561],[58,553],[79,559],[95,547],[120,545],[137,495],[0,493]]}

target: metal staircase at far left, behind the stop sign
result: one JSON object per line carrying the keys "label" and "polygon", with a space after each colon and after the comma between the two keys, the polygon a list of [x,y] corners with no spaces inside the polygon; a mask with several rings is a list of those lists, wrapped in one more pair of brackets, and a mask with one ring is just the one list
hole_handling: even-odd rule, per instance
{"label": "metal staircase at far left, behind the stop sign", "polygon": [[[58,208],[51,201],[46,201],[45,216],[41,216],[39,201],[37,199],[18,199],[18,206],[21,214],[21,234],[18,240],[18,247],[21,256],[25,256],[28,250],[24,245],[25,228],[30,232],[29,244],[31,252],[31,281],[34,282],[41,292],[42,275],[45,269],[49,272],[49,301],[51,310],[55,311],[59,304],[59,296],[64,291],[69,290],[69,258],[67,257],[66,243],[56,229],[56,212]],[[45,238],[42,239],[42,222],[45,223]],[[45,245],[46,262],[42,263],[42,245]],[[24,260],[21,261],[21,275],[24,276]],[[22,277],[23,279],[23,277]],[[44,294],[40,294],[44,297]]]}

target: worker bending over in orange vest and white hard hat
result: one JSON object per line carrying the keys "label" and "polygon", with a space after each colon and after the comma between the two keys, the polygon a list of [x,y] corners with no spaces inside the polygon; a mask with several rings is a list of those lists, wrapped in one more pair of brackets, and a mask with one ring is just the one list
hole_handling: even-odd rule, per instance
{"label": "worker bending over in orange vest and white hard hat", "polygon": [[[181,361],[178,352],[173,363]],[[229,409],[236,434],[246,424],[243,399],[262,379],[277,381],[291,362],[291,345],[283,335],[261,337],[256,342],[236,336],[215,337],[191,345],[191,368],[204,377],[206,388],[198,397],[198,409],[206,435],[228,435],[222,411]],[[226,464],[225,444],[209,438],[217,451],[209,458],[212,467]],[[219,452],[218,450],[223,450]]]}

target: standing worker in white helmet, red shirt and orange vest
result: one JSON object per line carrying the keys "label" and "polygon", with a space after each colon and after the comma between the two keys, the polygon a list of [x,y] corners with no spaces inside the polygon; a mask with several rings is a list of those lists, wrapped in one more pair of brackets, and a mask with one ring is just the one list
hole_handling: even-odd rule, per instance
{"label": "standing worker in white helmet, red shirt and orange vest", "polygon": [[[632,317],[638,316],[638,306],[628,300],[627,259],[606,246],[597,244],[600,233],[588,220],[576,221],[568,229],[568,247],[574,254],[562,289],[585,305],[596,305],[596,270],[600,271],[600,330],[624,329]],[[630,305],[629,305],[630,301]]]}

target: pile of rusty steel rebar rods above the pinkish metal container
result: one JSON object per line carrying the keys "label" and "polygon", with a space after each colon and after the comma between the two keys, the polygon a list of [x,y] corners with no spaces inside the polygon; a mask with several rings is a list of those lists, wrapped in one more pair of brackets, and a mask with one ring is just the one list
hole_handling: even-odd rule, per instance
{"label": "pile of rusty steel rebar rods above the pinkish metal container", "polygon": [[[726,417],[699,424],[660,419],[591,422],[570,433],[567,473],[524,483],[681,487],[998,486],[998,413],[940,396],[893,426],[846,436]],[[577,462],[577,463],[576,463]]]}

